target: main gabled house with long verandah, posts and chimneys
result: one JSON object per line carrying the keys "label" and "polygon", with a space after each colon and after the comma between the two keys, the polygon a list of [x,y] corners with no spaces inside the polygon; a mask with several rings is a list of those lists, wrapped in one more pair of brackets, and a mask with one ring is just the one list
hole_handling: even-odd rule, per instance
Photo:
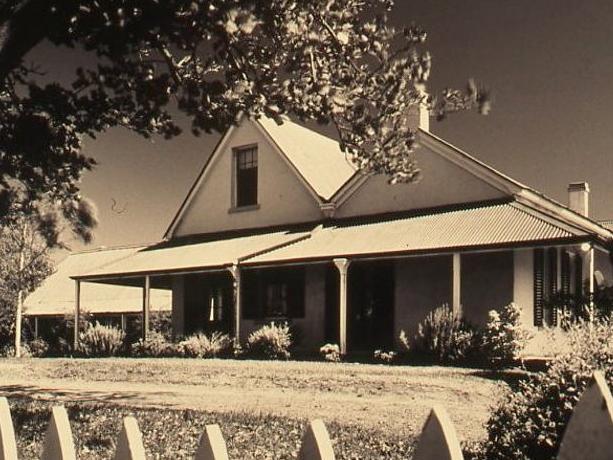
{"label": "main gabled house with long verandah, posts and chimneys", "polygon": [[146,318],[150,289],[170,290],[176,335],[244,341],[286,320],[304,349],[354,352],[394,347],[443,303],[475,324],[510,302],[527,326],[556,324],[555,293],[592,292],[596,270],[611,279],[613,233],[588,217],[586,183],[571,184],[562,205],[435,136],[423,113],[413,118],[423,179],[396,185],[289,120],[243,118],[163,240],[74,275],[77,291],[144,288]]}

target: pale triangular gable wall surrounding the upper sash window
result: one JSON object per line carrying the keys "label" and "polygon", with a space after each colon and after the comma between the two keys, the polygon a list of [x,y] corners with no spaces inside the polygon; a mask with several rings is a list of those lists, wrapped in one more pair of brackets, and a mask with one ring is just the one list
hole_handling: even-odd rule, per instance
{"label": "pale triangular gable wall surrounding the upper sash window", "polygon": [[[259,209],[232,210],[233,148],[258,146]],[[235,128],[212,159],[174,236],[309,222],[321,218],[315,197],[253,122]]]}

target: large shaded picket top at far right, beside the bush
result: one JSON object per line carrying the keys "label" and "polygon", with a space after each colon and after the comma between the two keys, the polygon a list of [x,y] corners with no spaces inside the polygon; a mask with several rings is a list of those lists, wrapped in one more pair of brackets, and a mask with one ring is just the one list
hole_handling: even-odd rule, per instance
{"label": "large shaded picket top at far right, beside the bush", "polygon": [[573,410],[559,460],[613,458],[613,396],[602,372],[594,372]]}

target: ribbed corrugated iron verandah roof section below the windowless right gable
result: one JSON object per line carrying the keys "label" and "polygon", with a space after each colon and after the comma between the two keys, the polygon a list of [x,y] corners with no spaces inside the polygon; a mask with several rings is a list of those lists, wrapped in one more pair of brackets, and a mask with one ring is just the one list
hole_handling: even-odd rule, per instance
{"label": "ribbed corrugated iron verandah roof section below the windowless right gable", "polygon": [[588,234],[541,219],[519,204],[506,203],[323,227],[308,239],[250,258],[244,263],[467,249],[583,236]]}

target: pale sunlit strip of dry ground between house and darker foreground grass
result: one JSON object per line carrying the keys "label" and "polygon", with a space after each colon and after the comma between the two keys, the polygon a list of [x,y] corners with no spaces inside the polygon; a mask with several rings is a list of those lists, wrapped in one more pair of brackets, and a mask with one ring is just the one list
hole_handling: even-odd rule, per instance
{"label": "pale sunlit strip of dry ground between house and darker foreground grass", "polygon": [[194,359],[0,361],[0,392],[138,407],[323,418],[414,437],[433,405],[465,440],[507,391],[472,369]]}

